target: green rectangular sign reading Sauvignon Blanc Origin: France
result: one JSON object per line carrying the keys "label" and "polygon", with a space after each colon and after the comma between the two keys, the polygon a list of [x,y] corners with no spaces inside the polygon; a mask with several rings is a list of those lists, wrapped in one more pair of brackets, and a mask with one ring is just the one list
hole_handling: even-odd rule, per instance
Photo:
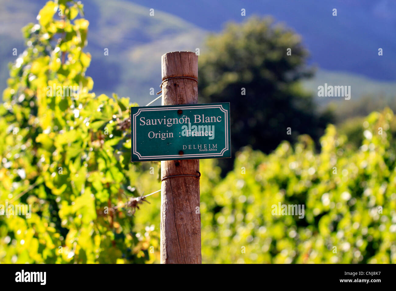
{"label": "green rectangular sign reading Sauvignon Blanc Origin: France", "polygon": [[230,158],[230,103],[131,107],[132,162]]}

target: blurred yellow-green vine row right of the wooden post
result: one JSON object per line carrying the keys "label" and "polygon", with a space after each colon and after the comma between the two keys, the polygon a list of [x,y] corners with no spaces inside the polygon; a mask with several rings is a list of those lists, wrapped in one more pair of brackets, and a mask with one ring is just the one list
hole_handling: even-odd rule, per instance
{"label": "blurred yellow-green vine row right of the wooden post", "polygon": [[[396,263],[392,120],[391,110],[371,113],[358,150],[329,126],[319,154],[307,136],[268,156],[239,152],[234,171],[201,195],[203,261]],[[272,215],[279,202],[305,205],[305,217]]]}

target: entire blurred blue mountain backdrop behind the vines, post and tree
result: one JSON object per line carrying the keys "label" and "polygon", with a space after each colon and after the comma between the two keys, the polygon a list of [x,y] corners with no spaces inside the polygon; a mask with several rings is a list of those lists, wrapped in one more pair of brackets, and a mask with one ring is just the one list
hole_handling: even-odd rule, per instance
{"label": "entire blurred blue mountain backdrop behind the vines, post and tree", "polygon": [[[0,0],[1,91],[6,87],[7,64],[17,58],[12,49],[17,48],[18,54],[24,49],[21,28],[36,22],[45,2]],[[150,88],[160,90],[162,54],[196,48],[203,54],[208,31],[219,32],[225,22],[241,22],[254,14],[272,15],[302,36],[311,52],[310,63],[320,67],[317,76],[305,82],[314,94],[318,86],[332,80],[339,82],[336,85],[352,85],[352,98],[378,90],[394,92],[394,0],[82,2],[90,22],[87,51],[92,61],[87,75],[93,78],[97,94],[115,92],[145,105],[155,97],[149,95]],[[154,17],[149,16],[150,8],[154,9]],[[246,17],[241,16],[242,8],[246,9]],[[337,9],[337,17],[332,16],[333,8]],[[103,53],[105,48],[109,49],[108,56]],[[378,48],[383,48],[383,56],[378,56]]]}

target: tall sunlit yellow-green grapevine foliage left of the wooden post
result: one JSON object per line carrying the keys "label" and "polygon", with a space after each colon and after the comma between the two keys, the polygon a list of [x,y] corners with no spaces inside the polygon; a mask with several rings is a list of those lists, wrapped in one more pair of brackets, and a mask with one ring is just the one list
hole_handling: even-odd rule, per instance
{"label": "tall sunlit yellow-green grapevine foliage left of the wooden post", "polygon": [[10,67],[0,106],[0,204],[32,205],[32,215],[0,216],[0,262],[144,262],[158,242],[152,227],[135,235],[131,209],[107,209],[140,195],[130,186],[139,172],[130,168],[131,105],[89,93],[89,23],[79,12],[77,2],[47,2],[38,24],[23,29],[27,49]]}

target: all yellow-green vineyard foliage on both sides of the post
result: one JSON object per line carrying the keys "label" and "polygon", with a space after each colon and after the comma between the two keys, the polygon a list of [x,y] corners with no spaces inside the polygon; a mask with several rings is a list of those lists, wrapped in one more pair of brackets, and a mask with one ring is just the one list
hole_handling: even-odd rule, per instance
{"label": "all yellow-green vineyard foliage on both sides of the post", "polygon": [[[0,106],[1,263],[159,262],[160,193],[125,206],[160,189],[159,163],[130,163],[136,104],[91,92],[82,8],[47,2],[10,66]],[[78,91],[65,94],[70,86]],[[358,149],[332,125],[319,152],[307,135],[268,155],[246,147],[224,179],[217,160],[201,160],[203,262],[395,263],[395,123],[389,109],[371,113]],[[1,208],[22,204],[31,217]],[[304,206],[304,215],[273,215],[278,204]]]}

